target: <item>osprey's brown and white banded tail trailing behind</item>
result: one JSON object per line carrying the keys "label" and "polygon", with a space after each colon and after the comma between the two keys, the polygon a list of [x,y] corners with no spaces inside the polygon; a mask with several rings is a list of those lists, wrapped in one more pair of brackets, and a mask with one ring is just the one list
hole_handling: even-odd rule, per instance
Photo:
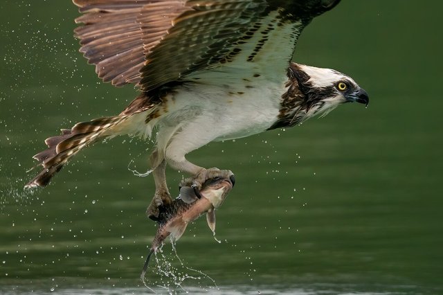
{"label": "osprey's brown and white banded tail trailing behind", "polygon": [[[96,141],[122,134],[125,121],[132,115],[122,115],[98,118],[89,122],[77,123],[71,129],[62,129],[62,134],[47,138],[48,149],[39,152],[33,158],[43,166],[33,180],[25,188],[42,187],[49,184],[56,172],[78,153],[83,147]],[[127,133],[127,132],[125,132]]]}

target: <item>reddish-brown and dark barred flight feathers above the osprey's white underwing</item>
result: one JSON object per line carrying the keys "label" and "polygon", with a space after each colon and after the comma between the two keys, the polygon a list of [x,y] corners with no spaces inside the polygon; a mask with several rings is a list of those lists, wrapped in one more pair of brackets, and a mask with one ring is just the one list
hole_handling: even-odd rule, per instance
{"label": "reddish-brown and dark barred flight feathers above the osprey's white underwing", "polygon": [[73,0],[84,15],[75,30],[90,64],[105,82],[150,91],[189,73],[215,67],[257,19],[271,11],[299,21],[340,0]]}

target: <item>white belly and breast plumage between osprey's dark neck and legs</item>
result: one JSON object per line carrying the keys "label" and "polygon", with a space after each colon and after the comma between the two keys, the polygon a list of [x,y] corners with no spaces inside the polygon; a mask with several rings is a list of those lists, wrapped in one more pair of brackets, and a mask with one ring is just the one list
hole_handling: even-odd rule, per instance
{"label": "white belly and breast plumage between osprey's dark neck and legs", "polygon": [[[262,84],[264,85],[264,84]],[[265,131],[275,122],[282,84],[248,89],[226,96],[226,89],[195,87],[182,91],[171,102],[163,126],[182,125],[181,132],[204,136],[210,141],[250,136]],[[186,127],[185,127],[186,125]]]}

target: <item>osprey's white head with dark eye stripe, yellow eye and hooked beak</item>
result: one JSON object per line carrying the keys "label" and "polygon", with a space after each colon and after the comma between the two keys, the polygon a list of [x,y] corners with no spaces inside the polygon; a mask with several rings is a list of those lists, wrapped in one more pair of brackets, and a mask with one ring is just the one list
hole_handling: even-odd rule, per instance
{"label": "osprey's white head with dark eye stripe, yellow eye and hooked beak", "polygon": [[292,63],[289,78],[296,80],[305,120],[316,114],[327,114],[345,102],[368,105],[366,91],[349,76],[332,69]]}

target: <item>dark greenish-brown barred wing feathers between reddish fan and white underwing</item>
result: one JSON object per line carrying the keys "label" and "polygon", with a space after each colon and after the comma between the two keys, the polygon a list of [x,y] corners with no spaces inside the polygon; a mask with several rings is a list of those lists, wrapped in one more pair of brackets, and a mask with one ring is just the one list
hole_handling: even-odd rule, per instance
{"label": "dark greenish-brown barred wing feathers between reddish fan and white underwing", "polygon": [[224,58],[253,24],[266,1],[188,1],[190,10],[172,22],[167,34],[146,55],[140,81],[143,91],[206,69]]}

